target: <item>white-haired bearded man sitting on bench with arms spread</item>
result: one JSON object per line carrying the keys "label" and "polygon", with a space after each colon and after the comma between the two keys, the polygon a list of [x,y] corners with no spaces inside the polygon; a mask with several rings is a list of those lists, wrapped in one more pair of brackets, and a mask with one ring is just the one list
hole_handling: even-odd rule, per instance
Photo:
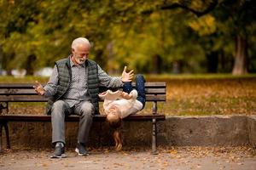
{"label": "white-haired bearded man sitting on bench with arms spread", "polygon": [[38,82],[34,86],[38,94],[49,97],[46,111],[51,114],[52,143],[55,144],[52,158],[65,157],[65,116],[71,114],[80,116],[75,151],[79,156],[87,156],[92,116],[99,111],[99,85],[119,88],[133,78],[133,71],[126,72],[126,67],[121,77],[108,76],[95,61],[88,59],[89,54],[90,42],[86,38],[73,40],[72,54],[55,62],[49,82],[44,87]]}

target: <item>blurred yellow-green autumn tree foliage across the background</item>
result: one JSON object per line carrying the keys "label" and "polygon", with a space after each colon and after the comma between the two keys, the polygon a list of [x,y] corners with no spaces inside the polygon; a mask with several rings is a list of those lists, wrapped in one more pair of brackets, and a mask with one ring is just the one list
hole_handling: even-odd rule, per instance
{"label": "blurred yellow-green autumn tree foliage across the background", "polygon": [[[67,57],[73,38],[88,37],[90,58],[113,73],[124,65],[151,73],[207,72],[207,60],[215,72],[232,55],[253,59],[254,11],[249,0],[3,0],[3,68],[32,74]],[[244,50],[235,50],[235,39]],[[223,70],[231,71],[230,64]]]}

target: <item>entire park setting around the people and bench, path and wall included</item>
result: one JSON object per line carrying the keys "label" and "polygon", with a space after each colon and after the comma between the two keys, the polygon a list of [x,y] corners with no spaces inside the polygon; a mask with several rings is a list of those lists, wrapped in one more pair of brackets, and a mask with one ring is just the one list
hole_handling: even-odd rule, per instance
{"label": "entire park setting around the people and bench, path and wall included", "polygon": [[[255,19],[253,0],[0,0],[0,83],[46,83],[38,72],[87,37],[90,59],[111,76],[128,65],[167,86],[158,156],[147,150],[151,122],[124,122],[117,153],[110,131],[99,139],[109,128],[94,122],[86,158],[73,152],[78,122],[67,122],[63,161],[49,160],[50,122],[9,122],[12,149],[0,151],[1,169],[255,169]],[[44,103],[10,103],[9,114],[44,114]]]}

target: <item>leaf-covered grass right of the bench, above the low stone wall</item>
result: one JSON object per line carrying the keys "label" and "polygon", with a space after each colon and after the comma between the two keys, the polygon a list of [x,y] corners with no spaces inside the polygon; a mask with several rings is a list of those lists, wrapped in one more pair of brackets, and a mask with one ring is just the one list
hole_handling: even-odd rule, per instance
{"label": "leaf-covered grass right of the bench, above the low stone wall", "polygon": [[[154,78],[152,79],[154,81]],[[166,115],[256,114],[256,78],[163,78],[167,101],[159,111]]]}

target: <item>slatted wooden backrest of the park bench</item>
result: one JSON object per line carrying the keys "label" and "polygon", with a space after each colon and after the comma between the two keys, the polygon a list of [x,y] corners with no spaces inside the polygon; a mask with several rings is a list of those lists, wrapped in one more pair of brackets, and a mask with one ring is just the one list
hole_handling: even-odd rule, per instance
{"label": "slatted wooden backrest of the park bench", "polygon": [[[0,102],[46,102],[47,98],[39,96],[32,88],[33,85],[32,83],[0,83]],[[132,86],[135,86],[134,82]],[[107,89],[100,87],[101,92]],[[112,88],[112,90],[116,89]],[[156,103],[166,101],[166,82],[146,82],[145,91],[146,101],[154,102],[153,113],[156,113]]]}

